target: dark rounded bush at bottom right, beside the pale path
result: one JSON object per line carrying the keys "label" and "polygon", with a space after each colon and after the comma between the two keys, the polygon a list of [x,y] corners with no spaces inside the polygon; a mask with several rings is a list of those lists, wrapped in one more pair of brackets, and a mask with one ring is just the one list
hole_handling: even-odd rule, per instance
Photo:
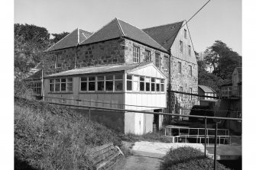
{"label": "dark rounded bush at bottom right, beside the pale path", "polygon": [[[216,168],[221,170],[228,169],[219,164],[219,162],[216,162]],[[213,169],[213,160],[205,158],[203,152],[193,147],[171,148],[167,155],[164,156],[164,162],[160,165],[160,169]]]}

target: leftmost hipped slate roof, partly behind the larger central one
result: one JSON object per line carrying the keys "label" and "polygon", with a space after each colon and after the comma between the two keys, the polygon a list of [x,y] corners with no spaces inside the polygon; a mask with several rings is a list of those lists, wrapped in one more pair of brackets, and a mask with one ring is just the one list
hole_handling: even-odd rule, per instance
{"label": "leftmost hipped slate roof, partly behind the larger central one", "polygon": [[70,34],[67,34],[66,37],[63,37],[63,39],[59,40],[57,43],[54,43],[52,47],[47,49],[47,51],[75,47],[78,43],[83,42],[91,35],[92,33],[86,30],[76,28],[76,30],[73,30]]}

